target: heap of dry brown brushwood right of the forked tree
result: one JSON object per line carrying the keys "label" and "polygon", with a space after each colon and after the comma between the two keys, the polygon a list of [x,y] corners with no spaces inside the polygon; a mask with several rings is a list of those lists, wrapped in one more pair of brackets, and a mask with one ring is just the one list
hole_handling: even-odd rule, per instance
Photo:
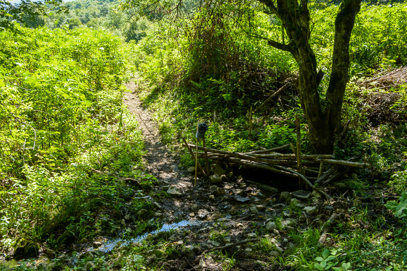
{"label": "heap of dry brown brushwood right of the forked tree", "polygon": [[357,82],[357,85],[375,89],[361,98],[371,123],[378,125],[405,122],[407,106],[400,103],[402,95],[397,91],[407,85],[407,67],[379,73],[373,78]]}

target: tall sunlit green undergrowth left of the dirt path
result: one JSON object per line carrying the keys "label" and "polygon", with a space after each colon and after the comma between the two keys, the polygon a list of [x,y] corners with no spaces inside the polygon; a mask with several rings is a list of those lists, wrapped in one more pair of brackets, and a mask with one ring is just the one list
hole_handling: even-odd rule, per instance
{"label": "tall sunlit green undergrowth left of the dirt path", "polygon": [[[140,131],[122,105],[120,40],[85,28],[15,28],[0,33],[2,248],[18,236],[60,245],[120,228],[109,221],[134,195],[121,176],[143,179]],[[149,209],[135,202],[134,212],[141,207]]]}

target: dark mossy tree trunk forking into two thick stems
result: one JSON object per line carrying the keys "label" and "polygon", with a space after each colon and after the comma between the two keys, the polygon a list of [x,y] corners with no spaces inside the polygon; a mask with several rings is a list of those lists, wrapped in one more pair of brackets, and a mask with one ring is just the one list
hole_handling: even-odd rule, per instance
{"label": "dark mossy tree trunk forking into two thick stems", "polygon": [[335,133],[340,132],[342,102],[348,80],[349,42],[361,0],[343,0],[335,19],[335,41],[332,69],[326,97],[326,110],[321,106],[318,93],[319,79],[315,54],[309,45],[308,1],[259,0],[282,22],[290,42],[269,45],[285,50],[294,56],[299,67],[299,93],[301,107],[308,124],[308,136],[314,152],[332,154]]}

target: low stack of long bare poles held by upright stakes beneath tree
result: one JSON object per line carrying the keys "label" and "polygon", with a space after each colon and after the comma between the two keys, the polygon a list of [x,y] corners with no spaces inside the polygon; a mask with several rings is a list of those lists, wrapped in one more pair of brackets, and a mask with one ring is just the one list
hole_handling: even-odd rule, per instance
{"label": "low stack of long bare poles held by upright stakes beneath tree", "polygon": [[[298,124],[299,127],[298,119],[296,119],[296,124]],[[348,124],[349,122],[346,124],[345,128]],[[345,129],[342,131],[341,135],[343,135],[344,131]],[[249,168],[270,170],[277,174],[298,177],[300,183],[304,183],[305,186],[311,187],[325,195],[327,198],[330,198],[330,196],[321,189],[315,187],[316,184],[327,185],[353,167],[370,167],[367,163],[352,162],[351,160],[355,158],[351,158],[347,161],[335,160],[335,153],[332,155],[302,155],[299,139],[300,134],[298,129],[297,148],[294,147],[294,144],[290,143],[272,149],[254,150],[247,153],[228,152],[226,150],[208,148],[205,144],[205,138],[203,140],[203,147],[188,144],[185,139],[183,146],[188,149],[193,160],[195,160],[196,157],[204,157],[206,159],[207,169],[209,168],[208,160],[212,159],[239,164]],[[276,152],[276,150],[287,146],[290,146],[293,149],[294,154],[281,154]],[[201,152],[197,152],[197,150],[200,150]],[[209,177],[209,172],[206,173],[198,162],[196,164],[201,173]],[[311,183],[311,180],[314,182]]]}

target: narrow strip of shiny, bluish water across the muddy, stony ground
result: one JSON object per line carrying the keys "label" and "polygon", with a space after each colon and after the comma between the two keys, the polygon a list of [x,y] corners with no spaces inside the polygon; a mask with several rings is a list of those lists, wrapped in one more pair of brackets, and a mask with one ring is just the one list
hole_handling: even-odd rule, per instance
{"label": "narrow strip of shiny, bluish water across the muddy, stony ground", "polygon": [[193,226],[193,225],[198,225],[199,223],[201,223],[200,221],[189,221],[189,220],[183,220],[177,223],[172,223],[172,224],[164,224],[162,225],[162,227],[158,230],[152,231],[152,232],[146,232],[142,235],[139,235],[135,238],[131,238],[129,240],[125,240],[122,238],[114,238],[114,239],[110,239],[107,240],[103,243],[103,245],[98,249],[99,251],[102,251],[104,253],[110,252],[113,250],[114,247],[116,246],[120,246],[120,247],[124,247],[127,246],[131,243],[138,243],[141,242],[142,240],[146,239],[146,237],[149,234],[157,234],[160,232],[165,232],[165,231],[170,231],[170,230],[175,230],[178,229],[180,227],[186,227],[186,226]]}

